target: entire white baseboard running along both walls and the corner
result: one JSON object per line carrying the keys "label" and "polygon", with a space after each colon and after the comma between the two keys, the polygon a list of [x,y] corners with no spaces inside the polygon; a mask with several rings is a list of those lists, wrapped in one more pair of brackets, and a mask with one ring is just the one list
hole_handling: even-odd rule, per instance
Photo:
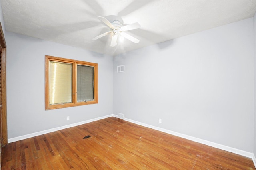
{"label": "entire white baseboard running along both walls and the corner", "polygon": [[[47,133],[50,133],[50,132],[56,132],[58,130],[62,130],[62,129],[65,129],[65,128],[70,128],[70,127],[75,127],[75,126],[78,126],[78,125],[82,125],[82,124],[85,124],[85,123],[90,123],[90,122],[93,122],[93,121],[98,121],[100,119],[105,119],[105,118],[108,118],[108,117],[118,117],[118,116],[114,115],[114,114],[111,114],[111,115],[106,115],[106,116],[103,116],[103,117],[90,119],[90,120],[87,120],[87,121],[82,121],[82,122],[73,123],[73,124],[70,124],[70,125],[65,125],[65,126],[62,126],[62,127],[52,128],[52,129],[49,129],[49,130],[43,130],[43,131],[32,133],[32,134],[26,134],[24,136],[18,136],[18,137],[15,137],[15,138],[8,139],[8,143],[16,142],[16,141],[27,139],[27,138],[32,138],[32,137],[39,136],[39,135],[42,135],[42,134],[47,134]],[[202,140],[200,138],[195,138],[195,137],[192,137],[192,136],[188,136],[186,134],[177,133],[177,132],[167,130],[167,129],[164,129],[164,128],[155,127],[155,126],[152,126],[152,125],[148,125],[146,123],[134,121],[132,119],[124,118],[124,120],[128,121],[128,122],[131,122],[131,123],[135,123],[137,125],[142,125],[144,127],[152,128],[152,129],[158,130],[160,132],[165,132],[165,133],[168,133],[168,134],[172,134],[174,136],[178,136],[178,137],[181,137],[181,138],[192,140],[194,142],[198,142],[198,143],[201,143],[201,144],[212,146],[214,148],[226,150],[228,152],[232,152],[232,153],[235,153],[235,154],[246,156],[248,158],[252,158],[254,166],[256,167],[256,158],[255,158],[253,153],[246,152],[246,151],[243,151],[243,150],[239,150],[239,149],[236,149],[236,148],[231,148],[229,146],[224,146],[222,144],[217,144],[217,143],[214,143],[214,142],[209,142],[207,140]]]}

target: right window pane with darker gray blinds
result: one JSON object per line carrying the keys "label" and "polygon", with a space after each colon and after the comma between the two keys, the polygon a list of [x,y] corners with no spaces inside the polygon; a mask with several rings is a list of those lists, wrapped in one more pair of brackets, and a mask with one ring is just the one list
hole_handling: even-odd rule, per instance
{"label": "right window pane with darker gray blinds", "polygon": [[94,99],[94,67],[77,65],[77,101]]}

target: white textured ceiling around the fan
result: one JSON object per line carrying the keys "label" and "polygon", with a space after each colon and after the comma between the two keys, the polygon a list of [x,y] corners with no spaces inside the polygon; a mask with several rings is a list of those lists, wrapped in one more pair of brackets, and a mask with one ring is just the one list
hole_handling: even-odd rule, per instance
{"label": "white textured ceiling around the fan", "polygon": [[[164,42],[253,17],[256,0],[1,0],[5,28],[52,42],[108,55]],[[108,26],[98,20],[138,22],[125,39],[110,47],[110,35],[92,40]]]}

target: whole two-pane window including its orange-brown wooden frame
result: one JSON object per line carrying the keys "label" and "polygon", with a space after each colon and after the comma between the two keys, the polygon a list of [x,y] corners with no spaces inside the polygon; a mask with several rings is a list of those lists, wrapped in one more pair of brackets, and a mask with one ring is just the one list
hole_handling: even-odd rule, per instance
{"label": "whole two-pane window including its orange-brown wooden frame", "polygon": [[98,103],[98,64],[45,56],[45,109]]}

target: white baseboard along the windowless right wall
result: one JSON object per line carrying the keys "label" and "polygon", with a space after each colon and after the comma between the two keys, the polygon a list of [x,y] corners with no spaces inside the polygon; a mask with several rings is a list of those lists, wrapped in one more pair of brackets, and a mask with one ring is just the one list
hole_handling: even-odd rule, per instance
{"label": "white baseboard along the windowless right wall", "polygon": [[[114,115],[114,117],[117,117],[117,115]],[[256,161],[255,161],[255,157],[254,157],[254,154],[253,153],[250,153],[250,152],[246,152],[244,150],[239,150],[239,149],[236,149],[236,148],[232,148],[232,147],[229,147],[229,146],[224,146],[222,144],[217,144],[217,143],[214,143],[214,142],[210,142],[210,141],[207,141],[207,140],[202,140],[200,138],[195,138],[195,137],[192,137],[192,136],[188,136],[186,134],[181,134],[181,133],[178,133],[178,132],[174,132],[174,131],[171,131],[171,130],[167,130],[167,129],[164,129],[164,128],[160,128],[160,127],[155,127],[155,126],[152,126],[152,125],[148,125],[146,123],[142,123],[142,122],[138,122],[138,121],[134,121],[134,120],[131,120],[131,119],[127,119],[127,118],[124,118],[125,121],[128,121],[128,122],[131,122],[131,123],[135,123],[137,125],[142,125],[144,127],[148,127],[148,128],[152,128],[154,130],[158,130],[158,131],[161,131],[161,132],[165,132],[165,133],[168,133],[168,134],[172,134],[174,136],[178,136],[178,137],[181,137],[181,138],[185,138],[185,139],[188,139],[188,140],[192,140],[194,142],[198,142],[198,143],[201,143],[201,144],[205,144],[205,145],[208,145],[208,146],[212,146],[214,148],[218,148],[218,149],[222,149],[222,150],[226,150],[228,152],[232,152],[232,153],[235,153],[235,154],[239,154],[239,155],[242,155],[242,156],[246,156],[248,158],[252,158],[252,160],[254,161],[254,166],[256,167]],[[254,158],[253,158],[254,157]]]}

